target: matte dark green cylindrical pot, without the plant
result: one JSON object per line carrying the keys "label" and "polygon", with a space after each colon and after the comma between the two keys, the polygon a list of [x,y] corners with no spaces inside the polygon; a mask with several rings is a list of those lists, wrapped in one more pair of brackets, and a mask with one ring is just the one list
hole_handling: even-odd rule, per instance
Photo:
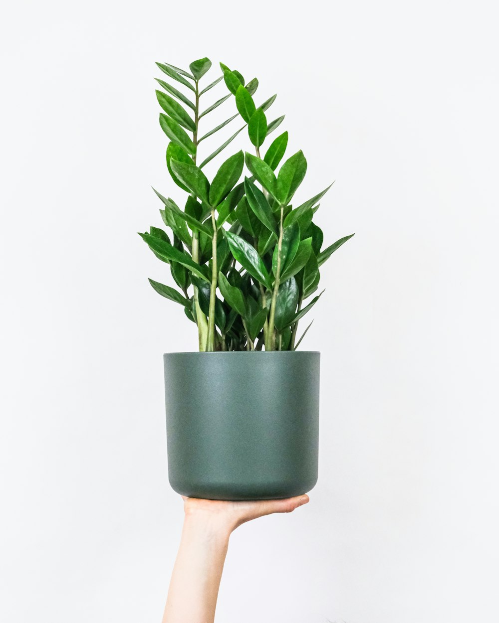
{"label": "matte dark green cylindrical pot, without the plant", "polygon": [[287,498],[317,482],[320,353],[167,353],[168,477],[211,500]]}

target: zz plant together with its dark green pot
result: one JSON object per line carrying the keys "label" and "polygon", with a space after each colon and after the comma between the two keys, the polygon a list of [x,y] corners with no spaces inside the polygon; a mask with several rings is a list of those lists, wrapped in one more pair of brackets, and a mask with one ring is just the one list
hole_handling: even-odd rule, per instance
{"label": "zz plant together with its dark green pot", "polygon": [[[320,354],[296,350],[311,323],[301,336],[298,325],[321,296],[321,265],[351,235],[322,244],[313,217],[329,186],[292,206],[307,162],[301,151],[285,158],[287,131],[271,140],[284,117],[268,122],[276,96],[258,105],[256,78],[220,64],[209,82],[206,58],[189,71],[157,65],[167,76],[156,91],[167,168],[186,195],[155,191],[169,233],[140,236],[176,284],[152,287],[182,305],[199,347],[164,355],[170,484],[213,499],[299,495],[317,482]],[[224,94],[209,98],[219,84]],[[228,118],[213,128],[209,115],[224,103]],[[204,149],[235,121],[230,138]],[[248,151],[220,158],[208,180],[205,165],[243,130]]]}

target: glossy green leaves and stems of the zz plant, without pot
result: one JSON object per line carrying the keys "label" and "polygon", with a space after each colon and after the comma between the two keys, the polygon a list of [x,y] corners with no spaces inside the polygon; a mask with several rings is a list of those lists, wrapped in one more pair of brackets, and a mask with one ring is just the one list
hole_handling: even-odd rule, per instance
{"label": "glossy green leaves and stems of the zz plant, without pot", "polygon": [[[262,156],[264,142],[284,117],[268,123],[266,112],[276,95],[257,106],[256,78],[245,84],[240,72],[220,64],[222,75],[201,88],[211,67],[209,59],[195,60],[190,71],[157,65],[169,79],[157,78],[163,90],[156,91],[163,110],[160,126],[170,141],[167,167],[187,199],[182,209],[155,191],[171,237],[158,227],[139,235],[158,259],[170,265],[178,288],[149,281],[160,295],[182,305],[197,325],[200,351],[295,350],[310,326],[297,340],[298,322],[321,296],[304,305],[317,290],[319,268],[354,235],[322,249],[322,231],[312,219],[331,186],[297,207],[291,205],[307,161],[298,151],[277,171],[286,152],[287,131],[269,143]],[[206,93],[222,81],[228,93],[204,108]],[[235,103],[233,114],[200,136],[208,115],[227,100],[232,100],[231,106]],[[204,146],[235,120],[244,125],[201,160],[201,143]],[[245,128],[254,153],[230,156],[210,183],[203,168]],[[241,180],[245,165],[247,173]]]}

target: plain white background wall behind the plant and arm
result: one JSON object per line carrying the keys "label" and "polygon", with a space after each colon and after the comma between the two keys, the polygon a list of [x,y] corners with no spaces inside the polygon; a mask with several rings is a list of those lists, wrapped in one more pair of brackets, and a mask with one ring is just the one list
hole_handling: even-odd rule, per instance
{"label": "plain white background wall behind the plant and arm", "polygon": [[319,483],[233,535],[217,623],[499,620],[493,3],[24,1],[0,34],[0,620],[160,621],[182,525],[162,353],[196,336],[136,232],[161,226],[151,184],[182,196],[154,61],[205,55],[278,93],[298,199],[336,179],[317,222],[356,232],[303,343]]}

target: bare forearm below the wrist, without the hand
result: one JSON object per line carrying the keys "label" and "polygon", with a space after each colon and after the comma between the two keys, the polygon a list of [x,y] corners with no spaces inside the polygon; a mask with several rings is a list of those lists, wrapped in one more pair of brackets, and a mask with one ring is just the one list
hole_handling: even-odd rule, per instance
{"label": "bare forearm below the wrist, without the hand", "polygon": [[185,517],[163,623],[213,623],[229,536],[224,523]]}

